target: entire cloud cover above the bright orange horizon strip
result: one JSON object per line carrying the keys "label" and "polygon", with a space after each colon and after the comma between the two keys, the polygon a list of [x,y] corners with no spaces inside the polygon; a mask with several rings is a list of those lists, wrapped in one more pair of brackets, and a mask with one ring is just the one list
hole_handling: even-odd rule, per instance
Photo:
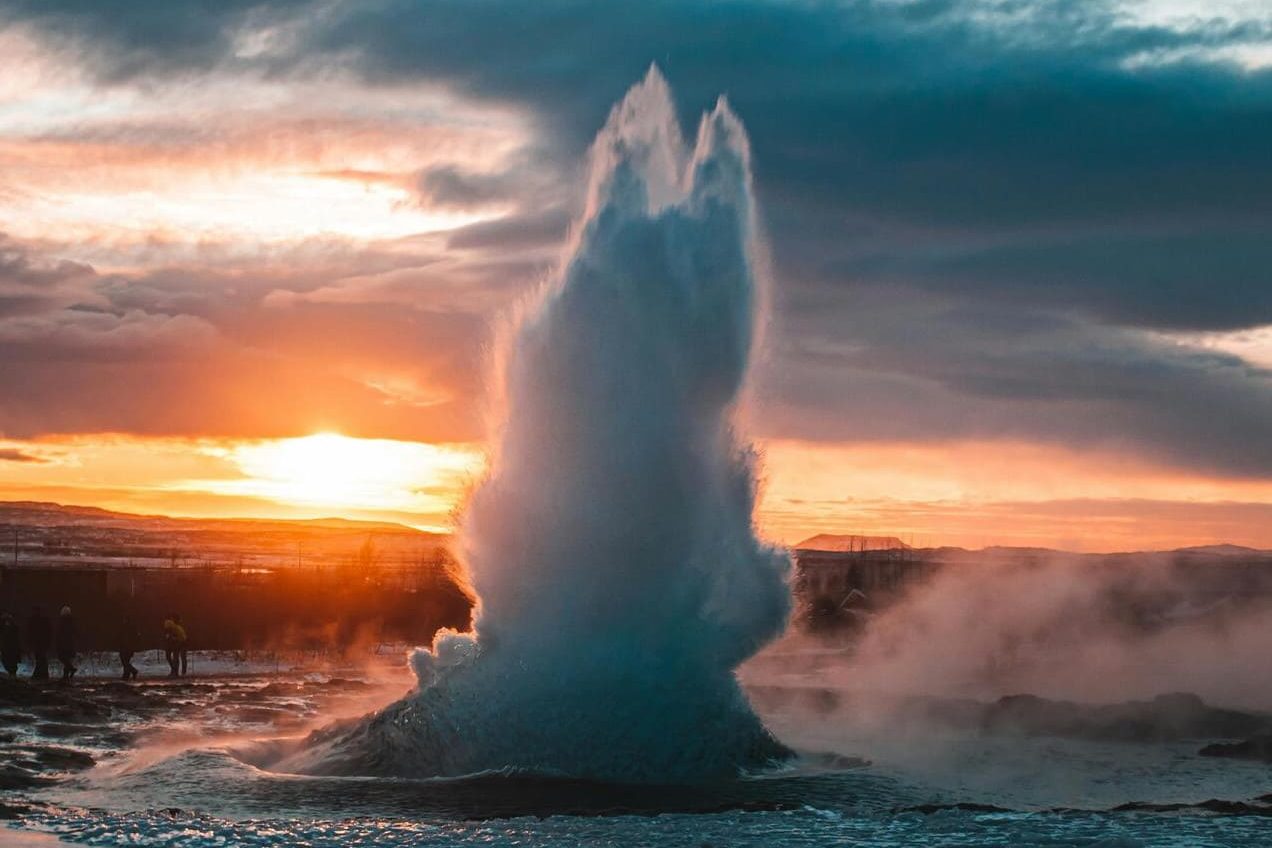
{"label": "entire cloud cover above the bright orange horizon strip", "polygon": [[[1272,15],[1141,6],[0,3],[43,69],[6,102],[56,83],[112,104],[0,125],[22,178],[0,211],[71,192],[32,164],[53,153],[200,179],[284,151],[385,192],[285,244],[11,236],[0,353],[23,365],[0,371],[0,432],[476,437],[483,328],[550,273],[583,201],[571,163],[653,60],[682,118],[722,90],[750,130],[778,281],[763,436],[1024,440],[1268,479],[1268,360],[1233,339],[1272,325]],[[307,186],[259,219],[361,203]],[[402,210],[439,229],[352,226]]]}

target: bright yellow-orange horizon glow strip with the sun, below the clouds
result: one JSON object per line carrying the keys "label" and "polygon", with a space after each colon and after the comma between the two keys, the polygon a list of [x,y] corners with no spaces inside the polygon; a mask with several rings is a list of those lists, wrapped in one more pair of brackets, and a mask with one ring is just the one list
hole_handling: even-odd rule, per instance
{"label": "bright yellow-orange horizon glow strip with the sun, below the clouds", "polygon": [[[1113,449],[761,440],[770,539],[1081,551],[1231,542],[1272,548],[1262,481],[1189,474]],[[174,517],[393,521],[448,533],[483,473],[480,442],[317,432],[281,439],[95,434],[0,439],[0,500]]]}

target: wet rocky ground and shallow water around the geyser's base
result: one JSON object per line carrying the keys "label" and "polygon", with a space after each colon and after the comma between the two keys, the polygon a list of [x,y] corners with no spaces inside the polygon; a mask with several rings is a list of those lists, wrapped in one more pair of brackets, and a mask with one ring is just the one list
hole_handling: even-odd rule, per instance
{"label": "wet rocky ground and shallow water around the geyser's base", "polygon": [[257,740],[361,715],[410,679],[247,671],[0,683],[0,844],[1272,844],[1272,768],[1198,756],[1205,740],[883,731],[829,690],[756,702],[785,741],[832,756],[722,784],[271,774],[251,765]]}

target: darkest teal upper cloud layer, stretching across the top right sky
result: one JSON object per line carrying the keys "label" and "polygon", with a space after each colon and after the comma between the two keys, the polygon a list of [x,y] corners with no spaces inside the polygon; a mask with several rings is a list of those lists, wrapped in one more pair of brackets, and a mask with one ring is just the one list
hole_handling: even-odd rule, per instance
{"label": "darkest teal upper cloud layer, stretching across the top right sky", "polygon": [[[1266,249],[1142,262],[1146,243],[1180,230],[1205,228],[1221,239],[1227,228],[1254,235],[1272,228],[1272,74],[1201,61],[1126,67],[1155,52],[1268,38],[1259,24],[1133,27],[1104,3],[296,6],[46,0],[13,8],[55,33],[108,46],[100,61],[113,74],[201,66],[228,52],[235,27],[291,20],[294,44],[266,61],[273,70],[341,62],[371,80],[440,79],[529,104],[558,158],[577,156],[614,99],[656,61],[686,117],[720,92],[745,117],[775,233],[800,216],[832,224],[819,242],[776,239],[784,267],[833,264],[845,248],[854,250],[843,258],[851,267],[857,245],[845,243],[836,222],[920,228],[937,247],[951,235],[993,234],[1007,244],[978,254],[974,268],[958,254],[949,266],[936,257],[927,276],[964,285],[959,277],[974,270],[1000,290],[1035,291],[1127,324],[1272,322],[1259,285],[1266,272],[1247,263],[1231,273],[1234,263],[1266,259]],[[492,201],[514,183],[457,168],[420,178],[425,198],[454,205]],[[1046,250],[1030,254],[1038,230],[1096,225],[1113,238],[1089,256],[1100,267],[1085,282],[1048,268]],[[925,247],[920,238],[890,257],[873,253],[881,264],[904,263]],[[1215,296],[1198,310],[1188,292],[1201,289]]]}

